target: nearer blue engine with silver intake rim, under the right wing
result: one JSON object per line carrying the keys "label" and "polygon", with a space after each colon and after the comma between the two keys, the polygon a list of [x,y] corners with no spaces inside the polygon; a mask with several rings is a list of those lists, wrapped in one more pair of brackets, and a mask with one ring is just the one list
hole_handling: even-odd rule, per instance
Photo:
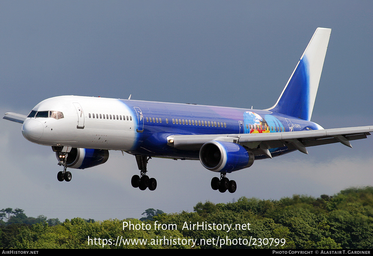
{"label": "nearer blue engine with silver intake rim, under the right wing", "polygon": [[201,147],[200,161],[210,171],[233,172],[253,165],[254,154],[239,144],[213,140]]}

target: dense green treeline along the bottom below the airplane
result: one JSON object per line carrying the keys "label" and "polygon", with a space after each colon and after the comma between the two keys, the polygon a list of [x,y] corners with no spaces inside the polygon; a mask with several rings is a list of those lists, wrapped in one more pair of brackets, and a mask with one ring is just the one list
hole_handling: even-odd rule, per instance
{"label": "dense green treeline along the bottom below the airplane", "polygon": [[[334,196],[319,198],[241,197],[234,203],[198,203],[194,212],[152,217],[153,220],[144,222],[138,219],[87,222],[75,218],[54,226],[47,222],[1,225],[0,248],[371,249],[373,187],[349,188]],[[193,228],[193,224],[199,224],[199,229],[195,225]],[[270,244],[270,238],[278,240]],[[140,244],[145,239],[147,243]],[[195,241],[195,246],[188,241]],[[282,241],[286,241],[283,246]]]}

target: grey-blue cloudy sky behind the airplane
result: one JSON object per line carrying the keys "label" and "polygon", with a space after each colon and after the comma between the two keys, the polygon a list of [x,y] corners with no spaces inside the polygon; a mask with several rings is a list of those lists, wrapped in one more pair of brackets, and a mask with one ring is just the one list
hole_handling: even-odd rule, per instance
{"label": "grey-blue cloudy sky behind the airplane", "polygon": [[[278,99],[317,27],[332,28],[312,121],[372,125],[372,1],[0,1],[0,111],[83,95],[264,109]],[[2,116],[1,116],[2,117]],[[145,209],[192,211],[241,196],[280,199],[373,185],[373,138],[256,161],[229,175],[236,193],[210,188],[199,161],[152,159],[155,191],[132,188],[135,157],[62,168],[50,147],[0,120],[0,208],[48,218],[140,218]]]}

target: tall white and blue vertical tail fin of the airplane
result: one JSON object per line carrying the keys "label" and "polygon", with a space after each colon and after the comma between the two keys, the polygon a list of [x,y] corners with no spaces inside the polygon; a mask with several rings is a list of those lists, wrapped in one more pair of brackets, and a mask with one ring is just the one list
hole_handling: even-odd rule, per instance
{"label": "tall white and blue vertical tail fin of the airplane", "polygon": [[310,121],[331,31],[316,29],[276,104],[267,110]]}

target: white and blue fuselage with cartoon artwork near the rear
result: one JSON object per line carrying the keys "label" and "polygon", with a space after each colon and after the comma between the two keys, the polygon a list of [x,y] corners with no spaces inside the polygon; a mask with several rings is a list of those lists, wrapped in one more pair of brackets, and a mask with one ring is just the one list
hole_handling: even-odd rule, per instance
{"label": "white and blue fuselage with cartoon artwork near the rear", "polygon": [[[270,133],[320,128],[313,122],[269,110],[102,97],[53,97],[40,102],[32,110],[63,114],[60,119],[36,117],[37,114],[26,118],[22,132],[34,143],[123,150],[131,154],[175,159],[198,160],[199,151],[168,146],[169,135]],[[272,156],[288,151],[286,147],[270,149]],[[256,156],[257,159],[263,157],[265,155]]]}

